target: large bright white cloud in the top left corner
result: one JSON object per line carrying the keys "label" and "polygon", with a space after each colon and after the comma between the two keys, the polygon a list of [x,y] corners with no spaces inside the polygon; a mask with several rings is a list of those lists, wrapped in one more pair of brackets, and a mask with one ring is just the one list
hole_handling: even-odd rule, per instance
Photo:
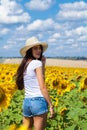
{"label": "large bright white cloud in the top left corner", "polygon": [[[3,12],[3,13],[2,13]],[[1,0],[0,5],[0,23],[18,23],[28,22],[30,16],[15,1]]]}

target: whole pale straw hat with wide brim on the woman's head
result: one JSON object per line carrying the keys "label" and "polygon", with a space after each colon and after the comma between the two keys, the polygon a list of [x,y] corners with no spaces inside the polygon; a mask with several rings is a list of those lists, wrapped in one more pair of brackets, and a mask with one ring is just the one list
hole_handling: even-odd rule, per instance
{"label": "whole pale straw hat with wide brim on the woman's head", "polygon": [[29,50],[30,48],[37,46],[37,45],[42,45],[43,47],[43,52],[47,49],[48,44],[44,42],[40,42],[36,37],[31,37],[26,41],[26,45],[21,48],[20,53],[22,56],[26,55],[26,51]]}

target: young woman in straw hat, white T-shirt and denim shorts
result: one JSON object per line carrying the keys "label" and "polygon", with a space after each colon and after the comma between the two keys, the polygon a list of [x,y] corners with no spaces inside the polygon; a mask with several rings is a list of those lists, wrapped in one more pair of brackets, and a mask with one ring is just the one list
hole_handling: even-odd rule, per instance
{"label": "young woman in straw hat, white T-shirt and denim shorts", "polygon": [[42,56],[47,49],[36,37],[27,40],[26,46],[20,50],[24,57],[17,70],[16,84],[18,89],[25,90],[23,101],[23,124],[27,130],[44,130],[46,127],[48,106],[50,118],[54,109],[44,82],[45,58]]}

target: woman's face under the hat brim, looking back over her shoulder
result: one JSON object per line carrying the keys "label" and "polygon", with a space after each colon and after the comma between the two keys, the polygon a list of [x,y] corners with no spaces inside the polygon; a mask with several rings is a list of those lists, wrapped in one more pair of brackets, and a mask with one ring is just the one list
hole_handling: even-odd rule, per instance
{"label": "woman's face under the hat brim, looking back over her shoulder", "polygon": [[41,46],[38,45],[32,48],[33,57],[35,57],[36,59],[40,58],[41,53],[42,53]]}

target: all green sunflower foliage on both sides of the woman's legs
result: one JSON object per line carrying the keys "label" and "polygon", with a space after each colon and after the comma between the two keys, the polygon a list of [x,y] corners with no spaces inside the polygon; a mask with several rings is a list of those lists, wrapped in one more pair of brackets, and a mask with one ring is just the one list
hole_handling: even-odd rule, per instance
{"label": "all green sunflower foliage on both sides of the woman's legs", "polygon": [[[54,107],[55,117],[53,120],[47,119],[45,130],[86,130],[87,129],[87,90],[78,91],[78,84],[75,89],[65,93],[63,96],[57,94],[56,90],[50,91],[55,104],[58,98],[58,106]],[[8,109],[0,113],[0,130],[11,124],[17,126],[22,123],[22,102],[24,92],[17,90],[11,100]]]}

